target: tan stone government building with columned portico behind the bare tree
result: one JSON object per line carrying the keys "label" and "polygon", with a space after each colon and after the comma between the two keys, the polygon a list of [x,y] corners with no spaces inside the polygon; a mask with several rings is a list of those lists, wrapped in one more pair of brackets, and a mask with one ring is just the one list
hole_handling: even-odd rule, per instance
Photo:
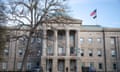
{"label": "tan stone government building with columned portico behind the bare tree", "polygon": [[[42,38],[31,40],[26,70],[40,66],[40,61],[43,72],[82,72],[90,69],[119,72],[120,28],[82,25],[81,20],[74,20],[72,23],[44,24],[42,32]],[[27,34],[27,31],[17,30],[14,34]],[[24,37],[10,39],[8,55],[1,62],[0,70],[19,70],[25,51],[24,42]]]}

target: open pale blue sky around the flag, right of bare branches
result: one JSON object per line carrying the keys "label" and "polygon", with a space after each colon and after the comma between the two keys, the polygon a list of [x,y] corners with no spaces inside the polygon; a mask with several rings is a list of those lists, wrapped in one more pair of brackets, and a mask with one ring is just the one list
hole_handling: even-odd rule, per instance
{"label": "open pale blue sky around the flag, right of bare branches", "polygon": [[[120,0],[69,0],[72,17],[83,20],[84,25],[120,27]],[[97,9],[97,18],[90,13]]]}

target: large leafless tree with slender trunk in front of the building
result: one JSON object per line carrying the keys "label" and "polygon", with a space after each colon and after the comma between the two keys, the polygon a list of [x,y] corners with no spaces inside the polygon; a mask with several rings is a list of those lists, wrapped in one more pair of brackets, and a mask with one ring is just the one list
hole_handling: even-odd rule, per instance
{"label": "large leafless tree with slender trunk in front of the building", "polygon": [[38,27],[43,28],[43,23],[60,22],[56,19],[67,16],[65,3],[66,0],[9,0],[7,13],[10,23],[29,28],[21,71],[27,61],[33,34]]}

